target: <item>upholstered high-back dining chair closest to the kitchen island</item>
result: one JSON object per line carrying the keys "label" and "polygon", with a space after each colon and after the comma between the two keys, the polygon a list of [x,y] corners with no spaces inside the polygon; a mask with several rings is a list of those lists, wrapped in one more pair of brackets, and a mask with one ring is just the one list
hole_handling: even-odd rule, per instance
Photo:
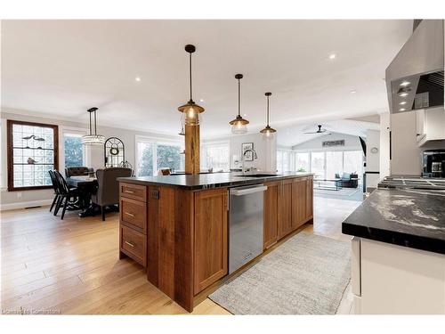
{"label": "upholstered high-back dining chair closest to the kitchen island", "polygon": [[105,220],[105,208],[119,204],[119,183],[117,177],[129,177],[131,168],[111,167],[96,170],[97,191],[92,195],[92,202],[101,207],[102,221]]}

